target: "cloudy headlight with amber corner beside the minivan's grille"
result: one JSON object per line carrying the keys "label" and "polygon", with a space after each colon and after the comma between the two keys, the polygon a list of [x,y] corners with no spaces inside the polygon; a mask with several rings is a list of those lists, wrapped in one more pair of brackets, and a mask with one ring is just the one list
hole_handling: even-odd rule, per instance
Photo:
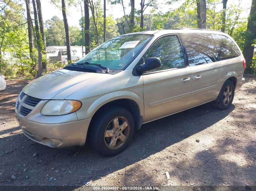
{"label": "cloudy headlight with amber corner beside the minivan's grille", "polygon": [[41,110],[42,115],[66,115],[79,110],[82,103],[77,100],[50,100]]}

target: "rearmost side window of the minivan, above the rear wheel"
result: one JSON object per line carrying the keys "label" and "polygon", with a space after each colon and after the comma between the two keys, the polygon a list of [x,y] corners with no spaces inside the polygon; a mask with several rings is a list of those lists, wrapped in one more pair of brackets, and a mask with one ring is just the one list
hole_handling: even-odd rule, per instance
{"label": "rearmost side window of the minivan, above the rear wheel", "polygon": [[236,44],[228,37],[220,34],[211,34],[219,54],[219,59],[240,56],[241,53]]}

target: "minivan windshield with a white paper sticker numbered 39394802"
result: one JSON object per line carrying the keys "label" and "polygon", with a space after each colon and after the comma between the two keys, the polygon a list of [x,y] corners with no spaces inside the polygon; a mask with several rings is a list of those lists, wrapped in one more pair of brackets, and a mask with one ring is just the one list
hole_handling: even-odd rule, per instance
{"label": "minivan windshield with a white paper sticker numbered 39394802", "polygon": [[78,60],[78,63],[94,63],[110,70],[123,70],[146,46],[153,35],[132,34],[114,37]]}

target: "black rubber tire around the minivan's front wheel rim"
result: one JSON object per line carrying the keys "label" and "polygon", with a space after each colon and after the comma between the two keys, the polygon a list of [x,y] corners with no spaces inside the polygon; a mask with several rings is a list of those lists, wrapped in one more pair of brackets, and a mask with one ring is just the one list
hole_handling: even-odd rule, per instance
{"label": "black rubber tire around the minivan's front wheel rim", "polygon": [[[113,121],[116,118],[119,123],[119,126],[118,126],[118,130],[119,130],[120,125],[124,124],[124,123],[121,123],[122,120],[119,117],[123,117],[124,121],[127,120],[126,122],[128,122],[126,124],[128,124],[129,126],[124,128],[126,130],[121,131],[122,135],[126,133],[127,139],[124,142],[122,142],[118,136],[116,145],[119,144],[120,147],[111,149],[108,146],[112,141],[112,139],[114,139],[114,137],[105,137],[105,131],[108,130],[108,128],[111,128],[111,125],[112,125],[112,128],[115,128]],[[112,128],[110,129],[110,131],[113,131]],[[129,132],[128,132],[128,129],[129,129]],[[131,113],[123,107],[113,106],[113,107],[105,108],[105,110],[102,110],[100,113],[96,114],[96,116],[91,121],[87,137],[92,149],[94,149],[95,151],[97,151],[102,155],[110,157],[110,156],[114,156],[116,154],[121,153],[127,147],[127,145],[131,142],[134,129],[135,129],[134,119]],[[124,131],[126,132],[123,133]],[[115,135],[121,135],[121,134],[116,133]],[[108,144],[107,141],[109,140],[109,138],[111,139],[111,141]]]}

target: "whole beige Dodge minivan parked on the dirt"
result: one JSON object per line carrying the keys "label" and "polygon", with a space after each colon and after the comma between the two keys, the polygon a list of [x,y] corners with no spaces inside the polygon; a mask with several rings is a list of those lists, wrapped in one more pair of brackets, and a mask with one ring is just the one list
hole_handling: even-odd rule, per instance
{"label": "whole beige Dodge minivan parked on the dirt", "polygon": [[230,107],[244,68],[237,43],[219,31],[125,34],[25,86],[16,119],[42,145],[69,147],[87,139],[113,156],[144,123],[207,102]]}

